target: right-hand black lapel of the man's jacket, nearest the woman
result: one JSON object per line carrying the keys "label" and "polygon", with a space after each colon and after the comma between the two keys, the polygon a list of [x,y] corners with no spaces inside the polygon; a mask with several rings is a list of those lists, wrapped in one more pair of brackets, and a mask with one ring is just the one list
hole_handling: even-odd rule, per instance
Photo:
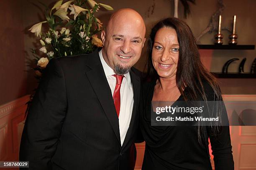
{"label": "right-hand black lapel of the man's jacket, nearest the woman", "polygon": [[122,148],[124,148],[125,145],[129,142],[129,140],[131,140],[131,136],[133,135],[133,128],[135,126],[134,123],[137,119],[138,104],[139,104],[138,102],[140,97],[140,87],[141,87],[140,78],[132,70],[130,72],[130,75],[131,75],[131,82],[133,85],[133,111],[132,111],[130,125],[125,135],[125,140],[123,142]]}

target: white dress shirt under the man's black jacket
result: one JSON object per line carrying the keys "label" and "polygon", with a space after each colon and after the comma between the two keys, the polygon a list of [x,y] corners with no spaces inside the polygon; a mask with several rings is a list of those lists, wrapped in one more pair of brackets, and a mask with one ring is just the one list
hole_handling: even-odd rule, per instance
{"label": "white dress shirt under the man's black jacket", "polygon": [[[115,72],[104,60],[102,50],[100,50],[99,55],[113,96],[116,83],[116,78],[113,76]],[[133,111],[133,86],[131,84],[130,72],[126,73],[123,77],[123,81],[120,87],[120,99],[119,130],[121,145],[123,145],[123,141],[129,128]]]}

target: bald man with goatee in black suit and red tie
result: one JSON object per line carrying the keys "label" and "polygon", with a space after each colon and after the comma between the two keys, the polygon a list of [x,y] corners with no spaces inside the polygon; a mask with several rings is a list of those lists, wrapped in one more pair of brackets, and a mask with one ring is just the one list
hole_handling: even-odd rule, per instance
{"label": "bald man with goatee in black suit and red tie", "polygon": [[133,170],[136,161],[145,24],[136,11],[114,13],[102,49],[50,60],[28,112],[20,161],[31,170]]}

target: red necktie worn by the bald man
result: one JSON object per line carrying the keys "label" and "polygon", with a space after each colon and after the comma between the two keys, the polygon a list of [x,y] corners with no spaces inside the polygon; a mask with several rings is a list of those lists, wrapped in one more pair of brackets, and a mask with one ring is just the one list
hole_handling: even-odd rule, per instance
{"label": "red necktie worn by the bald man", "polygon": [[114,94],[113,94],[113,100],[114,100],[114,104],[115,104],[115,110],[118,114],[119,117],[119,112],[120,112],[120,87],[122,84],[122,80],[123,80],[123,75],[113,75],[116,79],[116,83],[115,83],[115,90],[114,90]]}

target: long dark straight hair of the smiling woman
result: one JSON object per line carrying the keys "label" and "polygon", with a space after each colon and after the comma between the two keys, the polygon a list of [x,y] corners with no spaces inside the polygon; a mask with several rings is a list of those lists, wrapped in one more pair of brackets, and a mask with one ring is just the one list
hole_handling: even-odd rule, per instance
{"label": "long dark straight hair of the smiling woman", "polygon": [[[161,28],[173,28],[177,33],[177,38],[179,42],[179,60],[177,64],[176,72],[176,84],[179,92],[187,101],[188,98],[192,100],[197,100],[198,97],[202,97],[202,100],[207,101],[205,90],[203,87],[202,80],[209,83],[212,87],[215,95],[216,101],[222,100],[220,87],[218,85],[215,77],[204,67],[200,60],[200,53],[197,48],[196,39],[189,28],[189,26],[182,20],[178,18],[166,18],[158,22],[151,30],[151,34],[148,40],[148,77],[150,79],[159,79],[154,65],[152,63],[152,48],[154,45],[154,39],[156,32]],[[187,94],[184,93],[186,88]],[[219,108],[218,110],[220,110]],[[217,112],[217,116],[221,117],[221,112]],[[202,127],[198,125],[198,140],[201,143],[201,129]],[[214,126],[213,133],[218,131],[218,126]]]}

